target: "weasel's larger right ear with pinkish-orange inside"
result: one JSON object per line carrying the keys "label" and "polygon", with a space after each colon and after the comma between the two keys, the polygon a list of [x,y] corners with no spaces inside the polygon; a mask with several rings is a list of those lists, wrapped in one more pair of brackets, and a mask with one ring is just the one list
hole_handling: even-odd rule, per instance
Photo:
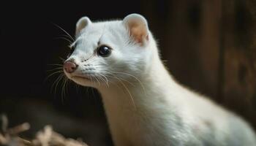
{"label": "weasel's larger right ear with pinkish-orange inside", "polygon": [[124,26],[129,31],[130,37],[140,45],[148,42],[148,23],[147,20],[139,14],[130,14],[123,20]]}

